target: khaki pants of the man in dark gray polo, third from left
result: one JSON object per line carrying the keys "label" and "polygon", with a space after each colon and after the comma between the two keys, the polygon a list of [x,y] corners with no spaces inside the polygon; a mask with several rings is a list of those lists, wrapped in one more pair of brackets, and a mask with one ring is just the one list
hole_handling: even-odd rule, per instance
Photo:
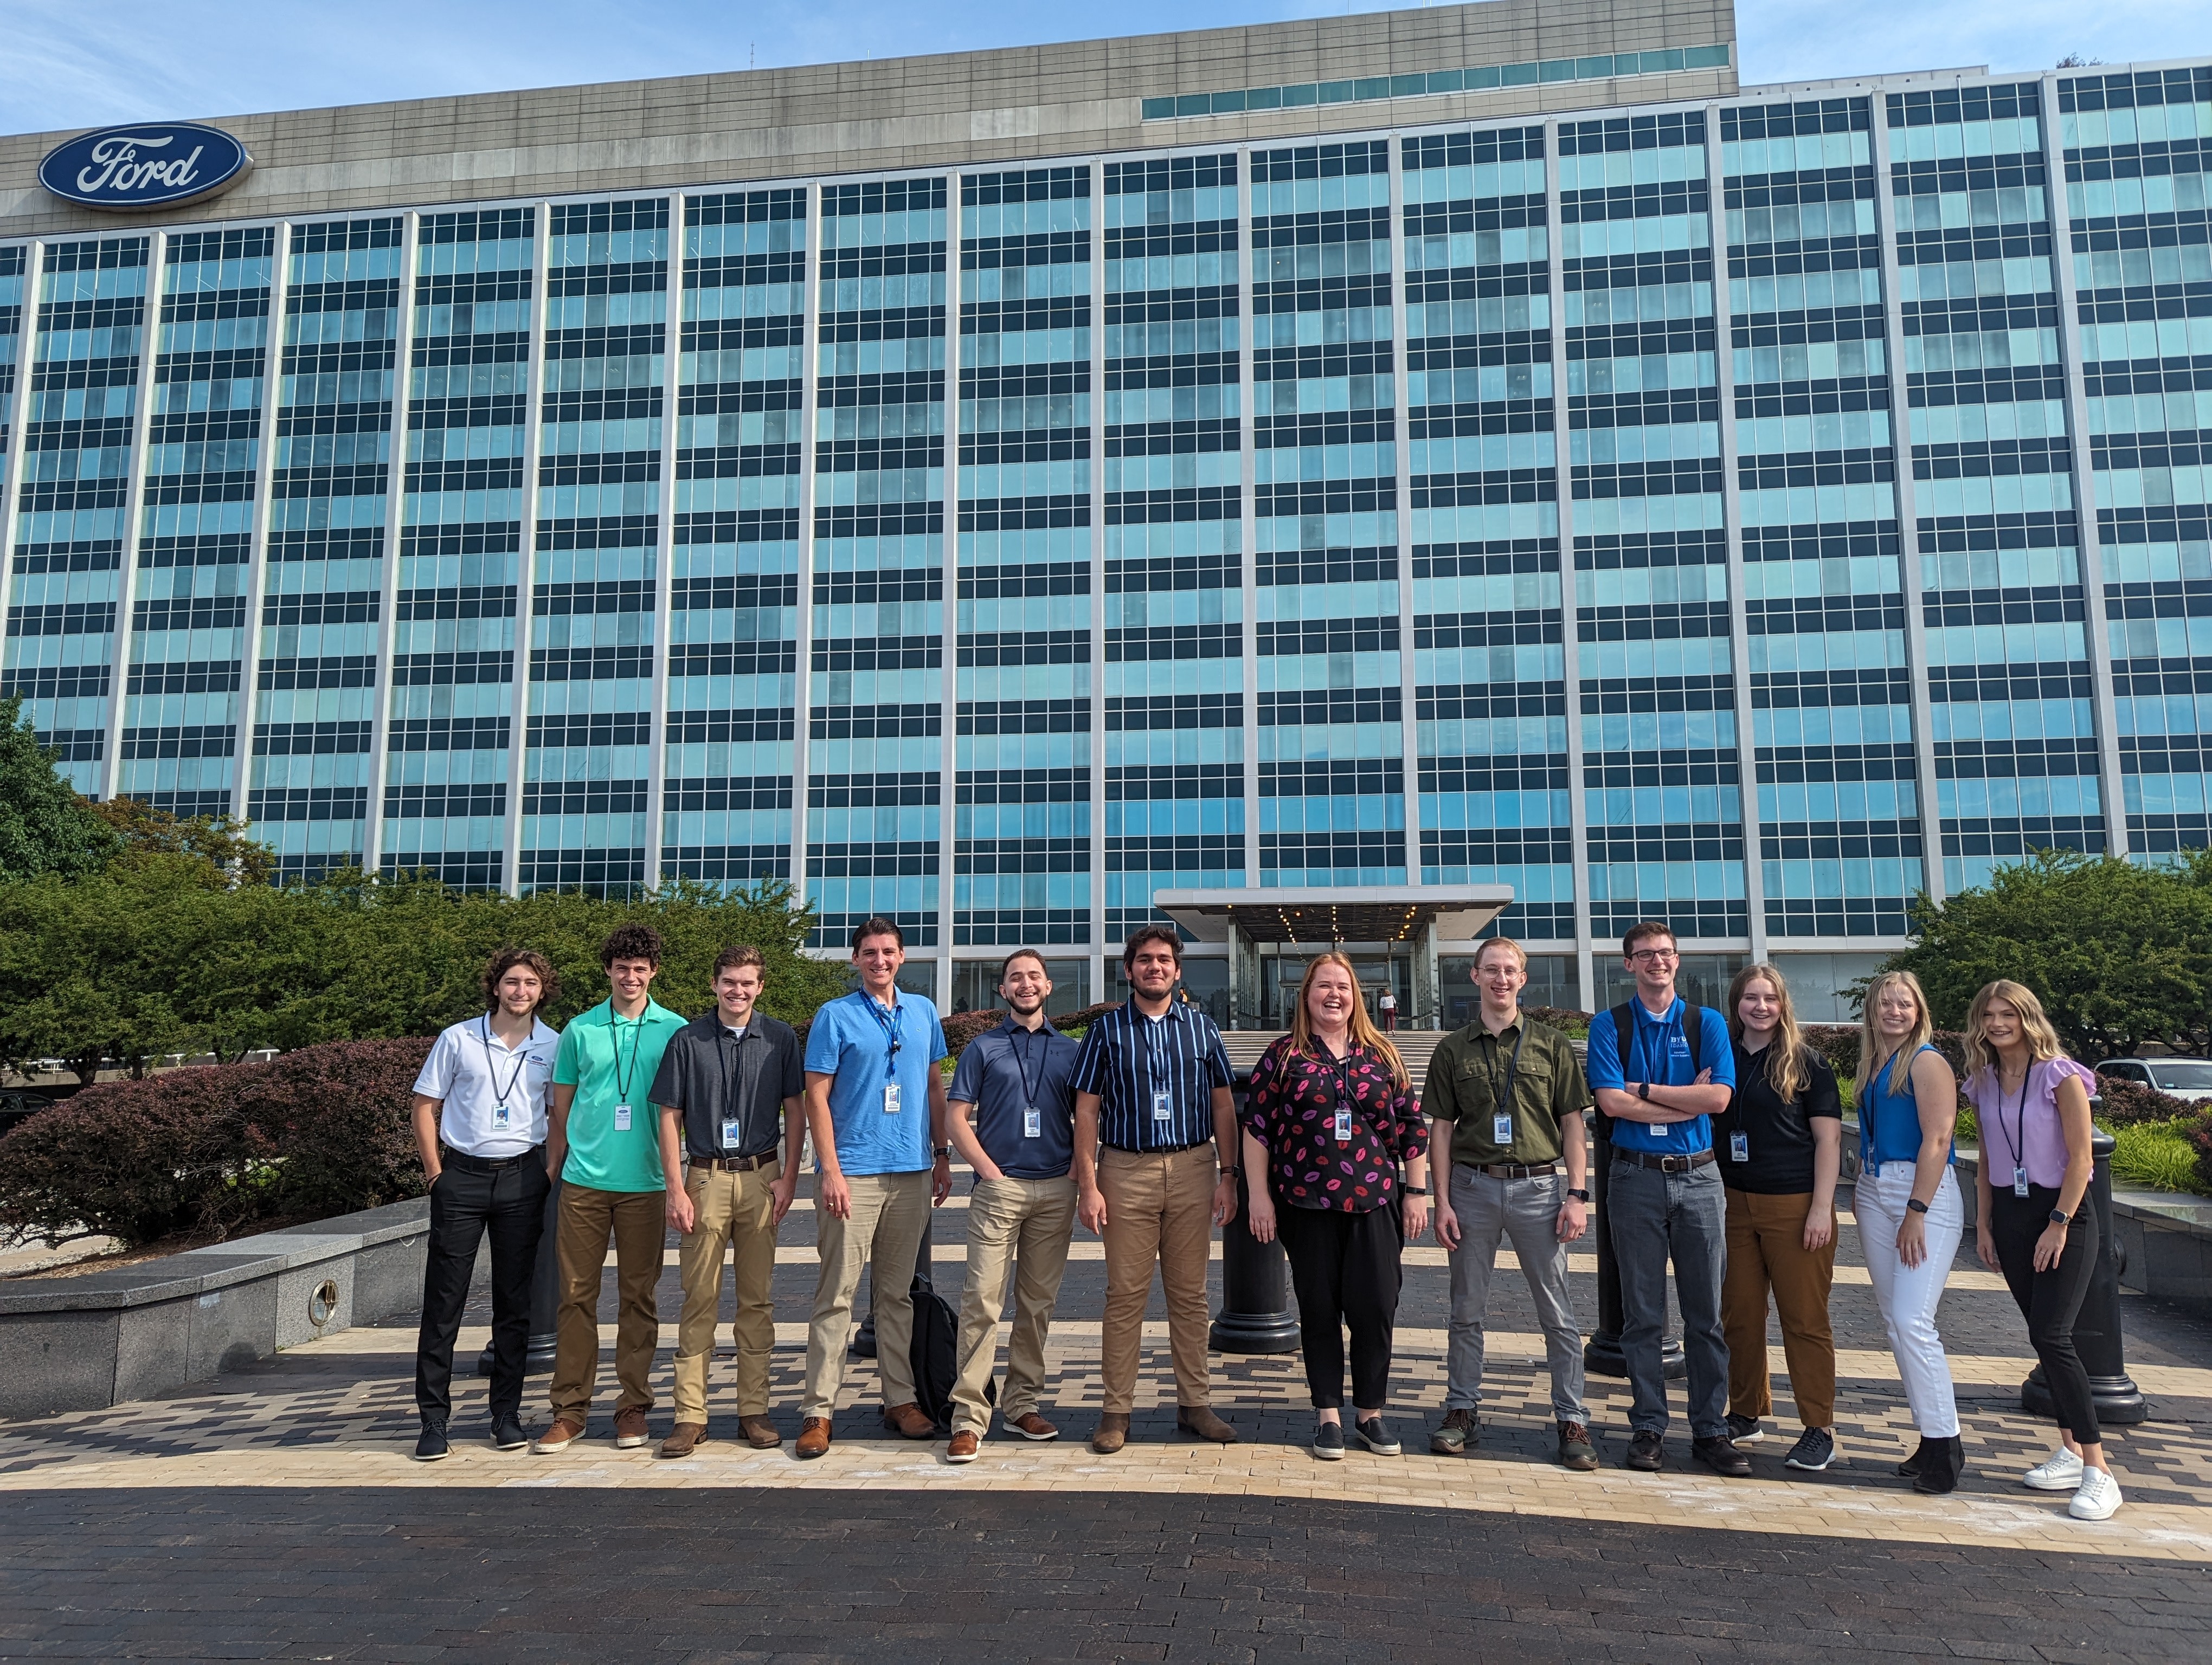
{"label": "khaki pants of the man in dark gray polo, third from left", "polygon": [[768,1415],[768,1360],[776,1351],[776,1210],[768,1187],[781,1163],[750,1174],[692,1165],[684,1192],[692,1205],[692,1229],[684,1234],[684,1318],[677,1324],[677,1422],[706,1422],[706,1366],[714,1358],[714,1324],[721,1318],[721,1256],[737,1260],[737,1413]]}

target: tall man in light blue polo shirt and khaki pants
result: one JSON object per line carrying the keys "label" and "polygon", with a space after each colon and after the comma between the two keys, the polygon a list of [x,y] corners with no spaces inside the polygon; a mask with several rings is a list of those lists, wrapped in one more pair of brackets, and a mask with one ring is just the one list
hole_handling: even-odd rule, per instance
{"label": "tall man in light blue polo shirt and khaki pants", "polygon": [[799,1455],[830,1451],[830,1417],[845,1384],[845,1336],[860,1267],[876,1302],[876,1369],[883,1422],[927,1439],[936,1422],[914,1391],[914,1256],[929,1210],[953,1187],[945,1143],[945,1028],[938,1008],[898,986],[907,940],[891,920],[852,933],[860,986],[832,999],[807,1028],[807,1130],[814,1134],[816,1254],[814,1320]]}

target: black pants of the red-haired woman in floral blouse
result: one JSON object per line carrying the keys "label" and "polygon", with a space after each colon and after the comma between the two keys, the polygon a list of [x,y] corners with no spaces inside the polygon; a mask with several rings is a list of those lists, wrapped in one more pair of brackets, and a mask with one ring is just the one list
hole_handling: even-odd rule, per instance
{"label": "black pants of the red-haired woman in floral blouse", "polygon": [[1276,1236],[1298,1294],[1298,1351],[1314,1406],[1345,1402],[1345,1329],[1352,1329],[1352,1404],[1389,1404],[1389,1338],[1398,1322],[1398,1256],[1405,1238],[1389,1203],[1365,1214],[1334,1207],[1279,1207]]}

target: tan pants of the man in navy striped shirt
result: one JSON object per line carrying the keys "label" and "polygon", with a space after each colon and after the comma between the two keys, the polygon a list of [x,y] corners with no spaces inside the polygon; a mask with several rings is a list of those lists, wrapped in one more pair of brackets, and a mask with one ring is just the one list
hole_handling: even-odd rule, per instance
{"label": "tan pants of the man in navy striped shirt", "polygon": [[1104,1409],[1128,1415],[1137,1404],[1137,1355],[1152,1265],[1168,1296],[1168,1351],[1175,1355],[1175,1402],[1188,1411],[1214,1402],[1206,1378],[1206,1260],[1214,1234],[1214,1148],[1192,1145],[1157,1156],[1099,1152],[1106,1198],[1106,1322],[1099,1324]]}

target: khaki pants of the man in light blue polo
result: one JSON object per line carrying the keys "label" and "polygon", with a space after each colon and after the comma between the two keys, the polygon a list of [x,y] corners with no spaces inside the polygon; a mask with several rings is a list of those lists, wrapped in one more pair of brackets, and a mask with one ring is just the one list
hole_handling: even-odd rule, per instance
{"label": "khaki pants of the man in light blue polo", "polygon": [[914,1256],[929,1225],[929,1170],[918,1174],[847,1174],[852,1218],[818,1207],[814,1318],[807,1324],[807,1397],[803,1417],[827,1417],[845,1386],[845,1340],[860,1267],[869,1267],[876,1305],[876,1373],[883,1404],[914,1404]]}

